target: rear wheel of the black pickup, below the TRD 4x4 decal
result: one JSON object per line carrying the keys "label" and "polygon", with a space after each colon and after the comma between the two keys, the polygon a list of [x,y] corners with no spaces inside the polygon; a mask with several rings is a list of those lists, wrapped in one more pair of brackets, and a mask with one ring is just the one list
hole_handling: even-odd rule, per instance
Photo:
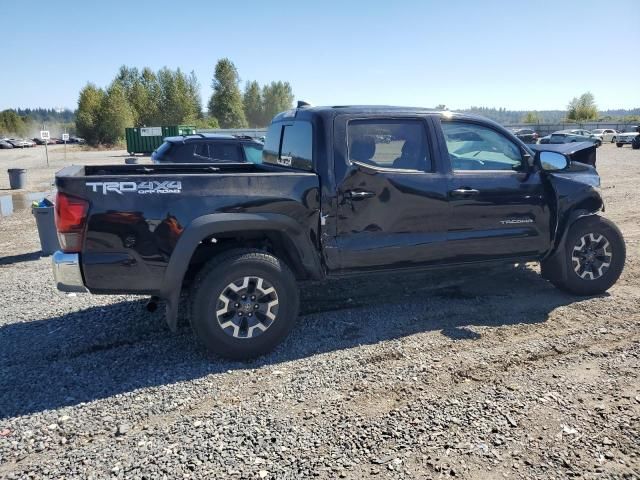
{"label": "rear wheel of the black pickup, below the TRD 4x4 decal", "polygon": [[[246,278],[250,280],[245,289],[233,290],[242,288],[241,282]],[[275,293],[262,294],[271,287]],[[246,301],[240,300],[238,292],[245,291]],[[252,300],[249,307],[260,307],[249,319],[254,311],[247,309],[249,297],[253,298],[251,293],[259,298]],[[238,296],[233,300],[232,295]],[[258,250],[231,250],[215,257],[197,274],[191,297],[190,321],[196,337],[209,351],[234,360],[247,360],[273,350],[289,334],[298,316],[298,287],[293,273],[275,256]],[[221,300],[223,297],[226,303]],[[274,313],[272,308],[276,307]],[[220,314],[223,310],[226,312]]]}

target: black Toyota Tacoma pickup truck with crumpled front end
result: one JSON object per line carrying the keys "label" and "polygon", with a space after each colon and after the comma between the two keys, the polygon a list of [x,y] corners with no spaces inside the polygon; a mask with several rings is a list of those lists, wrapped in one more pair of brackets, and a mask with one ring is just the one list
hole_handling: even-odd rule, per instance
{"label": "black Toyota Tacoma pickup truck with crumpled front end", "polygon": [[565,291],[604,292],[625,244],[599,215],[595,152],[536,148],[470,115],[300,105],[261,164],[67,167],[57,287],[151,295],[172,329],[186,291],[197,337],[232,358],[285,337],[305,280],[538,261]]}

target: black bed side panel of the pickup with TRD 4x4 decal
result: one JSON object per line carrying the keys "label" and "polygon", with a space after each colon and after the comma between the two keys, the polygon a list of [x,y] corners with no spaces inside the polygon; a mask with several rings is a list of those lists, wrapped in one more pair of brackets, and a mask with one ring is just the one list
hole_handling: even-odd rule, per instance
{"label": "black bed side panel of the pickup with TRD 4x4 decal", "polygon": [[313,172],[252,163],[70,166],[56,186],[89,202],[80,261],[94,293],[161,293],[174,250],[205,218],[286,217],[305,242],[319,242]]}

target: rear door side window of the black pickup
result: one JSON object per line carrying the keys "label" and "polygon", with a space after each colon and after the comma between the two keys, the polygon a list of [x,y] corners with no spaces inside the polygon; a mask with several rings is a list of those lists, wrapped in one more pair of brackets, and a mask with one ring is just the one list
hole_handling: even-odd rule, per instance
{"label": "rear door side window of the black pickup", "polygon": [[424,122],[419,119],[352,120],[349,160],[374,167],[431,171]]}

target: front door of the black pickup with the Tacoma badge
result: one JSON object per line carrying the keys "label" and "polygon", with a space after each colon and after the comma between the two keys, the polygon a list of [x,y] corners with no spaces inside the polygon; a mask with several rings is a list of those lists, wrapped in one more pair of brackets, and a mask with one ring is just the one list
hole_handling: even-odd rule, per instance
{"label": "front door of the black pickup with the Tacoma badge", "polygon": [[450,162],[447,243],[455,261],[543,254],[549,247],[550,210],[528,152],[486,124],[457,119],[440,124]]}

